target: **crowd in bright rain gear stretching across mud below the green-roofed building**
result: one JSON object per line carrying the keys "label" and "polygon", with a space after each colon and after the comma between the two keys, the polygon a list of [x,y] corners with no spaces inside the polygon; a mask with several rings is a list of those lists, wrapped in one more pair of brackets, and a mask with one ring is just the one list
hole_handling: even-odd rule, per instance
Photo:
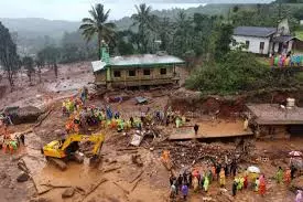
{"label": "crowd in bright rain gear stretching across mud below the green-roofed building", "polygon": [[[65,125],[67,134],[71,132],[87,132],[89,127],[98,126],[101,128],[116,129],[118,132],[128,131],[131,128],[141,130],[143,126],[151,126],[154,124],[175,124],[181,127],[186,118],[177,116],[171,107],[164,110],[141,110],[140,115],[122,115],[120,111],[115,111],[109,105],[97,107],[87,104],[88,91],[86,88],[80,91],[80,96],[71,97],[63,102],[63,116],[68,117]],[[166,118],[165,118],[166,115]]]}

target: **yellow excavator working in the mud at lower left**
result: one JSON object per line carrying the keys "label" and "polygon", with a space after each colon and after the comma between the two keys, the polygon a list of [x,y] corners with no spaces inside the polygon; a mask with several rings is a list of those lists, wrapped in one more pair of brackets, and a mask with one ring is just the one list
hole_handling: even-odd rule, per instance
{"label": "yellow excavator working in the mud at lower left", "polygon": [[79,142],[93,142],[94,148],[89,151],[90,163],[100,159],[100,151],[105,141],[104,135],[69,135],[66,139],[54,140],[45,145],[41,152],[46,160],[53,162],[61,170],[66,170],[68,160],[79,163],[84,161],[84,155],[79,153]]}

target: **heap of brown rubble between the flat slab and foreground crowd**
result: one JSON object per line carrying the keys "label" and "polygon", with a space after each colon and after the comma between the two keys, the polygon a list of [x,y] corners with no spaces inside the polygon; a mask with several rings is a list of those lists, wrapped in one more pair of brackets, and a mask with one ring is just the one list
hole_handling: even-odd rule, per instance
{"label": "heap of brown rubble between the flat slab and foreground crowd", "polygon": [[221,160],[225,162],[237,156],[236,147],[221,147],[219,143],[181,141],[156,146],[170,151],[172,162],[176,167],[194,164],[202,161]]}

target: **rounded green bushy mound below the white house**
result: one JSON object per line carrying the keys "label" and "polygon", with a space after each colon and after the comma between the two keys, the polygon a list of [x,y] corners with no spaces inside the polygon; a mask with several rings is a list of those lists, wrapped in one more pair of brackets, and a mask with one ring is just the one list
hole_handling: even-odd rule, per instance
{"label": "rounded green bushy mound below the white house", "polygon": [[221,62],[208,63],[195,71],[185,85],[215,94],[258,89],[269,84],[269,72],[253,54],[232,51]]}

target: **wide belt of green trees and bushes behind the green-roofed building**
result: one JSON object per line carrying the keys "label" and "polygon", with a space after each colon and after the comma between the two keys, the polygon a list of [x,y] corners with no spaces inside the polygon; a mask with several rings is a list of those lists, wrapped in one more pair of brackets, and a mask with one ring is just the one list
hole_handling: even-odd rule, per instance
{"label": "wide belt of green trees and bushes behind the green-roofed building", "polygon": [[[28,70],[48,65],[55,70],[57,63],[71,63],[100,57],[102,42],[109,45],[110,55],[155,53],[166,51],[183,57],[187,64],[193,59],[202,59],[204,65],[197,66],[186,81],[186,86],[212,93],[234,93],[277,84],[291,84],[289,77],[272,75],[256,56],[229,50],[232,29],[238,25],[277,26],[279,20],[286,18],[293,33],[300,33],[299,21],[303,18],[303,6],[286,4],[282,1],[270,4],[221,4],[206,6],[188,10],[152,11],[147,4],[136,6],[137,13],[115,23],[108,22],[110,11],[102,4],[96,4],[84,18],[79,30],[65,32],[62,41],[44,38],[44,45],[34,60],[25,54],[19,60],[15,52],[14,34],[10,36],[13,56],[13,70],[21,64]],[[203,12],[203,13],[202,13]],[[121,22],[123,22],[121,24]],[[126,26],[128,24],[128,26]],[[122,28],[122,29],[121,29]],[[2,29],[8,32],[7,29]],[[7,36],[6,36],[7,38]],[[23,62],[23,63],[22,63]],[[193,67],[193,65],[188,65]],[[11,70],[8,68],[7,70]],[[295,78],[294,78],[295,79]],[[286,81],[286,82],[285,82]]]}

